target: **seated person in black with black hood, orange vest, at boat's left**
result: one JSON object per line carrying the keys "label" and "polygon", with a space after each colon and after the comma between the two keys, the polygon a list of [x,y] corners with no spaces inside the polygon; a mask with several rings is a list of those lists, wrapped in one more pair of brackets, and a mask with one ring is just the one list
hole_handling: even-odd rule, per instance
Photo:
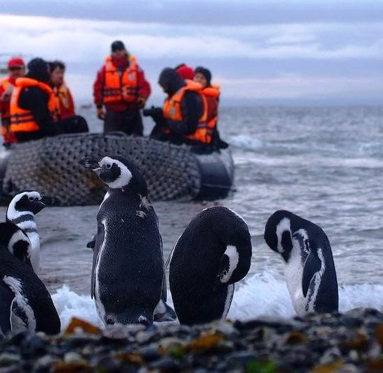
{"label": "seated person in black with black hood, orange vest, at boat's left", "polygon": [[40,58],[29,61],[28,73],[15,80],[10,98],[10,130],[17,142],[41,139],[61,133],[80,132],[68,124],[54,122],[54,94],[49,83],[48,63]]}

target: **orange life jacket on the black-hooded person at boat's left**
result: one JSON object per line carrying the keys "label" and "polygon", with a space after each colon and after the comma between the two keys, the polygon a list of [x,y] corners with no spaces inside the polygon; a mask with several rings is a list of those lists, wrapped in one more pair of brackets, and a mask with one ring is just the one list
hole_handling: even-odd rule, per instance
{"label": "orange life jacket on the black-hooded person at boat's left", "polygon": [[40,126],[33,118],[31,110],[19,107],[19,96],[22,89],[32,86],[37,86],[49,94],[48,109],[49,112],[54,113],[54,95],[52,88],[36,79],[19,77],[16,79],[15,88],[10,97],[10,130],[12,132],[34,132],[40,130]]}

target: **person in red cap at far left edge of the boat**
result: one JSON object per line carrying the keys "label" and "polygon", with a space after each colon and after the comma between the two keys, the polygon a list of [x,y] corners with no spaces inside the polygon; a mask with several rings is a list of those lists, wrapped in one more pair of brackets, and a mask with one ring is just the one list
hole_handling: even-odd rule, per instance
{"label": "person in red cap at far left edge of the boat", "polygon": [[25,63],[23,59],[14,57],[8,61],[9,75],[0,79],[0,116],[1,135],[4,146],[17,142],[15,134],[10,131],[10,96],[15,85],[15,79],[25,75]]}

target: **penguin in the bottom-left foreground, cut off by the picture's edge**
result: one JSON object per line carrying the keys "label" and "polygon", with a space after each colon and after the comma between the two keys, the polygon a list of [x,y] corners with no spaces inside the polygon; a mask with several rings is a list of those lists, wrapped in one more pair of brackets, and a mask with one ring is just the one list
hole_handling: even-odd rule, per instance
{"label": "penguin in the bottom-left foreground, cut off by the picture's edge", "polygon": [[31,243],[12,222],[0,223],[0,335],[21,330],[60,332],[60,319],[45,285],[28,264]]}

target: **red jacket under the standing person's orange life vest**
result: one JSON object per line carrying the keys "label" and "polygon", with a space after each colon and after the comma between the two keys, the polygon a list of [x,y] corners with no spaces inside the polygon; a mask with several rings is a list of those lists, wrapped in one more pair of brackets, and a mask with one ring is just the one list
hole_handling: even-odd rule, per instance
{"label": "red jacket under the standing person's orange life vest", "polygon": [[[123,70],[125,66],[127,66],[127,58],[123,57],[122,59],[116,59],[112,57],[112,63],[114,66],[116,66],[118,69]],[[145,75],[143,73],[143,70],[138,67],[137,70],[137,80],[138,80],[138,94],[139,97],[143,97],[147,99],[150,96],[150,84],[145,79]],[[102,105],[105,105],[105,107],[109,110],[112,110],[114,112],[122,112],[126,109],[137,109],[137,105],[135,102],[125,102],[123,100],[119,102],[107,102],[104,104],[102,100],[102,91],[104,88],[104,81],[105,81],[105,65],[100,68],[97,72],[97,77],[95,79],[95,83],[93,84],[93,97],[95,100],[95,105],[97,107],[100,107]]]}

